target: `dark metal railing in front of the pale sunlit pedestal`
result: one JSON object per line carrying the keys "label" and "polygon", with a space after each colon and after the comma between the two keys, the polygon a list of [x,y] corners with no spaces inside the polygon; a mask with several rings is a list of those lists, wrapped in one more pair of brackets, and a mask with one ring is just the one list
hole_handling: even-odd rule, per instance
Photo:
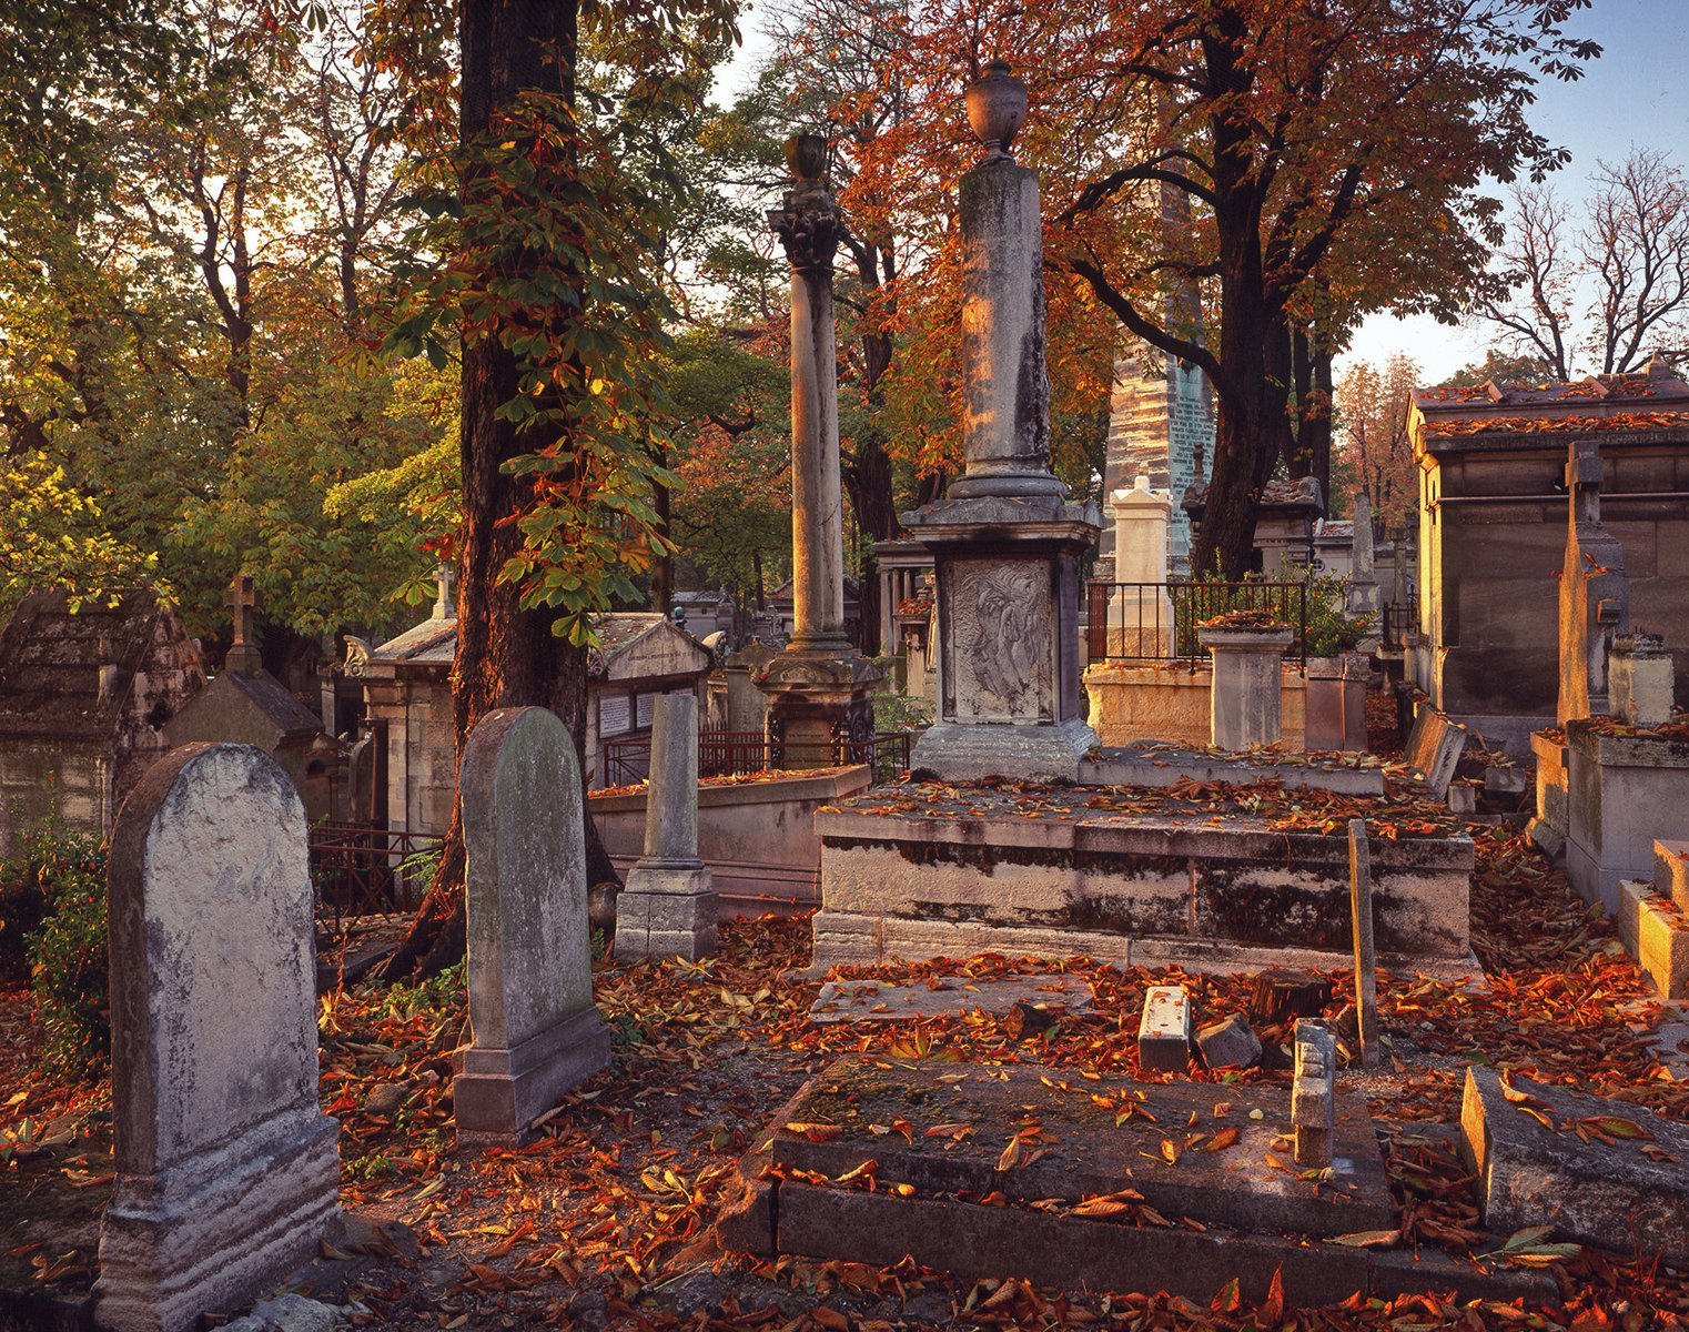
{"label": "dark metal railing in front of the pale sunlit pedestal", "polygon": [[1105,583],[1088,593],[1091,661],[1208,659],[1196,627],[1231,610],[1265,610],[1295,637],[1285,658],[1307,668],[1307,583]]}

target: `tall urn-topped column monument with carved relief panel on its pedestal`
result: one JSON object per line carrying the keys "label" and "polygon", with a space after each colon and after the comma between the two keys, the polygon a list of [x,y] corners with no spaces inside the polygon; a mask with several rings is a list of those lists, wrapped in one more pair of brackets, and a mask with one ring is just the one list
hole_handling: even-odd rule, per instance
{"label": "tall urn-topped column monument with carved relief panel on its pedestal", "polygon": [[1094,505],[1051,472],[1037,172],[1008,149],[1027,90],[1003,61],[968,86],[985,156],[961,177],[963,475],[904,514],[932,551],[937,720],[910,766],[944,781],[1073,779],[1096,744],[1079,690],[1079,556]]}

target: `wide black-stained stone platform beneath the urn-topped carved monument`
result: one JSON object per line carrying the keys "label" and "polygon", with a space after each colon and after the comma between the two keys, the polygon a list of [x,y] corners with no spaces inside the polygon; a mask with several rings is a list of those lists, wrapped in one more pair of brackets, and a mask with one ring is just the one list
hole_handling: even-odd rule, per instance
{"label": "wide black-stained stone platform beneath the urn-topped carved monument", "polygon": [[[1130,791],[878,786],[816,815],[814,974],[985,952],[1121,967],[1351,965],[1348,840]],[[1476,975],[1463,833],[1373,843],[1380,962]]]}

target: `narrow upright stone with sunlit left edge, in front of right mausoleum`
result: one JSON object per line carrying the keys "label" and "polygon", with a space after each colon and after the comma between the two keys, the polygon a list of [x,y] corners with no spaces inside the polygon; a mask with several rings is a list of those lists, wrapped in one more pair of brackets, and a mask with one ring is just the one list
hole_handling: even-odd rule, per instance
{"label": "narrow upright stone with sunlit left edge, in front of right mausoleum", "polygon": [[1601,450],[1594,439],[1567,448],[1566,556],[1561,561],[1559,725],[1605,717],[1606,654],[1615,634],[1630,632],[1625,551],[1601,522]]}

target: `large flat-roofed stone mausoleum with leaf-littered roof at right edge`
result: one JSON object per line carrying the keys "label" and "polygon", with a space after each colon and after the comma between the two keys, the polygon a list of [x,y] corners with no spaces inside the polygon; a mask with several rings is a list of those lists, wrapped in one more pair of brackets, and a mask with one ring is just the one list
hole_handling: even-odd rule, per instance
{"label": "large flat-roofed stone mausoleum with leaf-littered roof at right edge", "polygon": [[1567,445],[1601,460],[1601,519],[1623,549],[1630,624],[1660,634],[1689,696],[1689,384],[1645,374],[1535,389],[1420,389],[1414,683],[1491,744],[1529,752],[1556,720]]}

